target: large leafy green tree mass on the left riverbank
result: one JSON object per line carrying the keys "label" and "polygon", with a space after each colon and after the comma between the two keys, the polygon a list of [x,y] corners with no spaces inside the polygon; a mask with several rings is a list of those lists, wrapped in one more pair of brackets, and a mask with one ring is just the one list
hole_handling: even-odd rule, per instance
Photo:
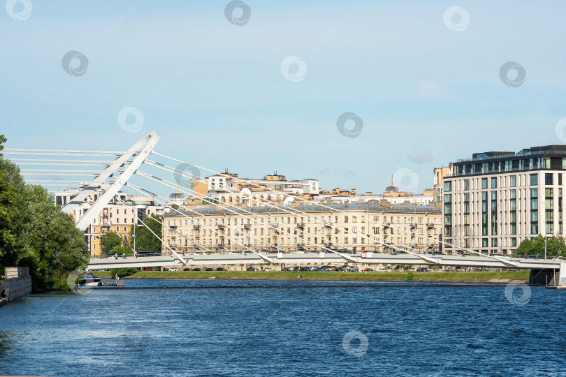
{"label": "large leafy green tree mass on the left riverbank", "polygon": [[[0,135],[0,150],[3,142]],[[0,266],[29,266],[34,290],[68,289],[68,274],[87,265],[85,246],[53,195],[26,184],[17,165],[0,155]]]}

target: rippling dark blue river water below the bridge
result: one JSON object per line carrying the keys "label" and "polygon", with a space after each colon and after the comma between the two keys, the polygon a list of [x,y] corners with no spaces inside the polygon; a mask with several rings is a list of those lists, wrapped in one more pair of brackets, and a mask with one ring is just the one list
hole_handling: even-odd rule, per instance
{"label": "rippling dark blue river water below the bridge", "polygon": [[566,374],[566,291],[348,281],[127,280],[0,309],[0,374]]}

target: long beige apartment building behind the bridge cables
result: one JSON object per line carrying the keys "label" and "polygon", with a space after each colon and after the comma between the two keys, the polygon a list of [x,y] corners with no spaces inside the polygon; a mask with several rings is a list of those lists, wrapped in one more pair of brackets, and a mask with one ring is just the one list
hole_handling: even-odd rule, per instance
{"label": "long beige apartment building behind the bridge cables", "polygon": [[391,252],[391,244],[442,250],[442,210],[428,205],[186,206],[164,214],[164,223],[162,238],[177,252],[323,251],[325,247]]}

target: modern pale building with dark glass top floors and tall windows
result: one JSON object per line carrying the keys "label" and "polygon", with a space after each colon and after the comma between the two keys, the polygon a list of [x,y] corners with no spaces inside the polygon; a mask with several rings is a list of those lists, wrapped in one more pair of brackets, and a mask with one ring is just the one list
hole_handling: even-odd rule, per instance
{"label": "modern pale building with dark glass top floors and tall windows", "polygon": [[442,185],[445,241],[508,255],[523,239],[563,237],[563,179],[564,145],[477,153],[458,160]]}

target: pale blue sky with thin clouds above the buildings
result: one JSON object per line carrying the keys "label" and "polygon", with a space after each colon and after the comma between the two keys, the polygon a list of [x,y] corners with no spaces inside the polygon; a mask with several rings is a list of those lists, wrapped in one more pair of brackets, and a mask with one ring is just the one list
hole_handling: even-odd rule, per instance
{"label": "pale blue sky with thin clouds above the buildings", "polygon": [[[374,193],[393,174],[422,191],[433,168],[477,151],[563,143],[562,1],[245,3],[242,26],[226,19],[228,1],[0,12],[0,133],[8,147],[124,150],[157,131],[157,151],[212,170]],[[446,24],[451,6],[465,13]],[[87,57],[84,75],[62,68],[71,50]],[[306,66],[299,80],[283,74],[296,65],[282,73],[287,57]],[[518,87],[500,78],[507,61],[525,69]],[[126,107],[143,113],[136,133],[118,123]],[[355,138],[338,132],[344,112],[363,120]]]}

